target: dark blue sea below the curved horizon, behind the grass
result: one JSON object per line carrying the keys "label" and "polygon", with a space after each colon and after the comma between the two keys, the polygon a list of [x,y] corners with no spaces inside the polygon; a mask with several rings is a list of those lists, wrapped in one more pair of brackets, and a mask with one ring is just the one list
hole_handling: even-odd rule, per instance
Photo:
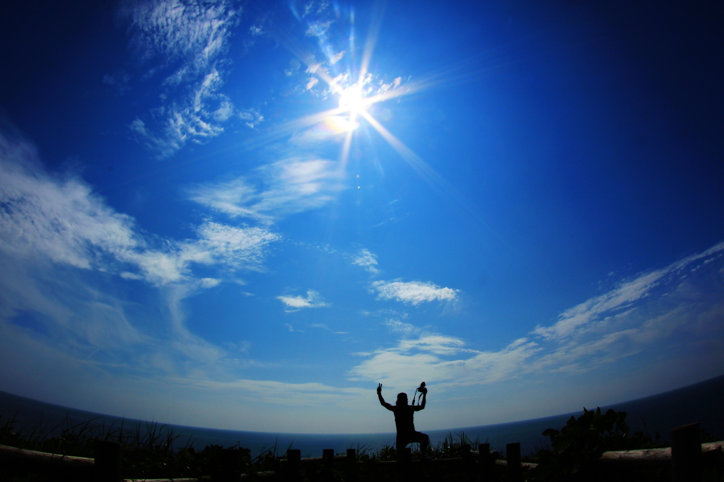
{"label": "dark blue sea below the curved horizon, behind the grass", "polygon": [[[659,433],[662,440],[670,440],[670,429],[686,423],[699,422],[702,428],[717,439],[724,439],[724,376],[702,381],[698,384],[685,386],[662,394],[622,402],[602,410],[623,410],[628,415],[626,423],[632,431],[644,428],[649,434]],[[452,434],[459,439],[460,434],[471,441],[488,442],[492,449],[505,450],[505,444],[521,443],[522,454],[529,454],[544,447],[547,438],[542,432],[547,428],[559,429],[565,426],[566,420],[583,412],[565,413],[546,418],[534,418],[512,423],[498,423],[475,427],[455,427],[446,430],[426,431],[432,445],[435,446]],[[119,426],[120,419],[110,415],[85,412],[72,408],[52,405],[37,400],[18,397],[0,391],[0,416],[3,420],[15,418],[16,428],[30,428],[38,423],[46,428],[59,426],[64,420],[78,423],[95,419],[94,423],[107,426]],[[145,421],[125,419],[124,426]],[[268,432],[251,432],[235,430],[219,430],[216,428],[200,428],[179,425],[168,425],[174,434],[180,436],[177,445],[190,444],[196,449],[216,444],[224,447],[240,445],[251,449],[255,457],[270,449],[277,454],[284,454],[288,448],[300,449],[302,457],[321,457],[322,449],[334,449],[345,452],[345,449],[377,450],[395,443],[394,432],[384,434],[282,434]]]}

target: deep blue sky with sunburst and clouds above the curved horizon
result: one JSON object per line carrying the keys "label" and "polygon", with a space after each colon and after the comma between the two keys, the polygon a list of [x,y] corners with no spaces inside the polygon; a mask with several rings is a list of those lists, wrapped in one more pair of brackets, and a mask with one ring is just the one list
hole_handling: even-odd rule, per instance
{"label": "deep blue sky with sunburst and clouds above the curved horizon", "polygon": [[0,389],[361,433],[724,373],[720,8],[2,7]]}

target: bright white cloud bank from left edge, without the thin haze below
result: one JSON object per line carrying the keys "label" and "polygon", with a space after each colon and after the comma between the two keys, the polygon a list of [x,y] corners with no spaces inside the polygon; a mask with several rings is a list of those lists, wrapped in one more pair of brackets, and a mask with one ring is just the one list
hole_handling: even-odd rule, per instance
{"label": "bright white cloud bank from left edge, without the thin haze below", "polygon": [[0,135],[0,156],[0,250],[16,258],[41,255],[161,285],[193,280],[193,263],[258,271],[266,245],[279,240],[266,229],[206,221],[195,240],[154,247],[130,216],[107,206],[83,180],[47,174],[27,143]]}

